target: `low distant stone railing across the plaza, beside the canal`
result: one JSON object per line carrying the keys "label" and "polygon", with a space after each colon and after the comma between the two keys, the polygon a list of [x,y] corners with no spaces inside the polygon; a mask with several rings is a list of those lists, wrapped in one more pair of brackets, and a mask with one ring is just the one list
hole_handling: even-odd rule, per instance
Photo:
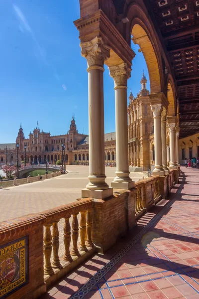
{"label": "low distant stone railing across the plaza, beside the canal", "polygon": [[[48,174],[43,174],[43,175],[37,175],[37,176],[28,176],[25,178],[14,178],[12,180],[7,180],[7,181],[0,181],[0,188],[6,188],[6,187],[11,187],[11,186],[18,186],[26,183],[32,183],[36,182],[39,180],[44,180],[46,178],[52,178],[58,175],[61,175],[61,171],[56,171]],[[42,177],[42,179],[40,178]]]}

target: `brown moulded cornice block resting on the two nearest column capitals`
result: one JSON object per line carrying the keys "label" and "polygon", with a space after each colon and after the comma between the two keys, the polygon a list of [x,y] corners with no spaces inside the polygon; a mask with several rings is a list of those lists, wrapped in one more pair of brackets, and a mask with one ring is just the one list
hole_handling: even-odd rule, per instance
{"label": "brown moulded cornice block resting on the two nearest column capitals", "polygon": [[132,65],[135,52],[101,9],[74,21],[74,24],[80,31],[81,42],[101,36],[104,43],[109,45],[124,62]]}

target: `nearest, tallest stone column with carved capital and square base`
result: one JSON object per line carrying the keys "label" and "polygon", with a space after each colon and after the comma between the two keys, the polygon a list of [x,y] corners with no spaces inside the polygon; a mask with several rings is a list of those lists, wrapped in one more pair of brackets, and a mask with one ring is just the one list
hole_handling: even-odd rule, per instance
{"label": "nearest, tallest stone column with carved capital and square base", "polygon": [[101,37],[81,43],[82,56],[87,58],[89,73],[89,180],[82,197],[105,198],[112,189],[105,182],[104,165],[104,60],[110,57],[110,47]]}

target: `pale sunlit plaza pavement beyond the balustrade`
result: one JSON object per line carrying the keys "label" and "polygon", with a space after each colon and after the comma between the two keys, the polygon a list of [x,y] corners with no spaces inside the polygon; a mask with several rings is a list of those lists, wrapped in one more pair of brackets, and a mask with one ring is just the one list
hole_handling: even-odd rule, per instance
{"label": "pale sunlit plaza pavement beyond the balustrade", "polygon": [[[67,174],[55,178],[0,189],[0,222],[45,211],[81,197],[81,190],[89,182],[89,166],[67,165],[66,169]],[[115,177],[115,170],[116,167],[105,167],[109,185]],[[130,176],[137,181],[143,173],[133,172]]]}

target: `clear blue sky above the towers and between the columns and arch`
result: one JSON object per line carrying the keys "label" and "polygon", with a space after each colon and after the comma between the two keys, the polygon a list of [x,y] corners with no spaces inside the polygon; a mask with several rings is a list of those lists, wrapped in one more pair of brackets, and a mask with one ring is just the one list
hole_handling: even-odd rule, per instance
{"label": "clear blue sky above the towers and between the columns and arch", "polygon": [[[0,1],[0,143],[15,142],[22,123],[28,137],[40,130],[65,134],[74,113],[80,133],[88,134],[87,62],[81,56],[79,0]],[[128,80],[134,95],[143,69],[138,46]],[[104,72],[105,133],[115,131],[114,83]],[[149,82],[147,87],[149,88]]]}

